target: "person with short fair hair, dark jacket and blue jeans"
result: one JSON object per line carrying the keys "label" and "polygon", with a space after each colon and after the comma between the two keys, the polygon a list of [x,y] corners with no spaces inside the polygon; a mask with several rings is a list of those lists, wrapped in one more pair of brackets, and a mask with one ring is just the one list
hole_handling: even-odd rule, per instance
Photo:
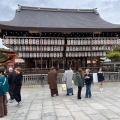
{"label": "person with short fair hair, dark jacket and blue jeans", "polygon": [[85,93],[85,98],[91,98],[91,83],[92,83],[92,75],[90,74],[90,70],[86,69],[85,70],[85,75],[84,75],[84,80],[86,84],[86,93]]}

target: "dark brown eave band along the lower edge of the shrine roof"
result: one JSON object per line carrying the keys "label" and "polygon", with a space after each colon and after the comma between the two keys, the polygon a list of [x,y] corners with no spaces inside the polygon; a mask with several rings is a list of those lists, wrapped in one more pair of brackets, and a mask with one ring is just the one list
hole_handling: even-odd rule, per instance
{"label": "dark brown eave band along the lower edge of the shrine roof", "polygon": [[0,25],[0,29],[29,31],[37,30],[40,32],[120,32],[120,28],[48,28],[48,27],[21,27],[21,26],[7,26]]}

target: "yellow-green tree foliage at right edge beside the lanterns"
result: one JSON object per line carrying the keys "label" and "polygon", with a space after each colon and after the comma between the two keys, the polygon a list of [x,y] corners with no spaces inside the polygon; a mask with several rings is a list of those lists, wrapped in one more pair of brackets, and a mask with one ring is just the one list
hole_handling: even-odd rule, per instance
{"label": "yellow-green tree foliage at right edge beside the lanterns", "polygon": [[120,45],[117,45],[113,51],[108,52],[106,56],[112,61],[120,61]]}

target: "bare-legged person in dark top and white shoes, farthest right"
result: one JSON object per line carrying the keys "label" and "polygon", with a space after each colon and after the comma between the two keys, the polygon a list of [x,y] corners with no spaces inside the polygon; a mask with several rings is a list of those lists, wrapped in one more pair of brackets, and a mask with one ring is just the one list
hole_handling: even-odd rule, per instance
{"label": "bare-legged person in dark top and white shoes, farthest right", "polygon": [[98,82],[99,82],[99,88],[100,88],[100,92],[103,91],[103,81],[104,81],[104,76],[103,76],[103,72],[102,72],[102,68],[99,69],[98,73]]}

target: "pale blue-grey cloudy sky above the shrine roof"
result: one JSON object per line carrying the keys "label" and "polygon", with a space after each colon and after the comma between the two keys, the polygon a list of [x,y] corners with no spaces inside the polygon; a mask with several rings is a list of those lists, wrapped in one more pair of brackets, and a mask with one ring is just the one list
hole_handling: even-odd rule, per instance
{"label": "pale blue-grey cloudy sky above the shrine roof", "polygon": [[[18,4],[47,8],[97,8],[100,16],[104,20],[114,24],[120,24],[120,0],[0,0],[0,21],[13,19]],[[2,47],[1,44],[0,40],[0,47]]]}

